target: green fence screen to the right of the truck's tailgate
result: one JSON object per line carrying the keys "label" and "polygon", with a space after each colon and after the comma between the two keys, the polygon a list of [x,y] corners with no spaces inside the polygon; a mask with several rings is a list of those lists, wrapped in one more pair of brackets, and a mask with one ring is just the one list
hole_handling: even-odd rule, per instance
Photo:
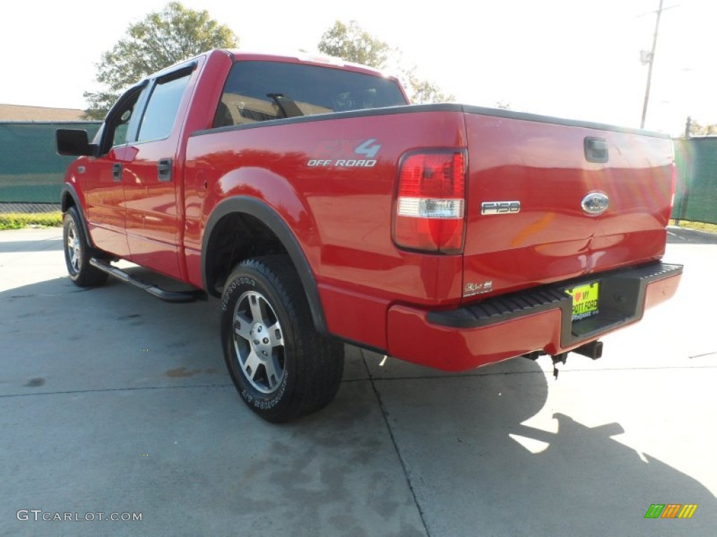
{"label": "green fence screen to the right of the truck's tailgate", "polygon": [[717,137],[675,140],[673,218],[717,224]]}

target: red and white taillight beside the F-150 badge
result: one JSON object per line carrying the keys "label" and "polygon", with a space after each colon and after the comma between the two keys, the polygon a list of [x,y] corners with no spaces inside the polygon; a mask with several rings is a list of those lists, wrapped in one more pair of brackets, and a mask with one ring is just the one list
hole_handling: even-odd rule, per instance
{"label": "red and white taillight beside the F-150 badge", "polygon": [[394,218],[394,241],[415,250],[459,253],[465,234],[464,150],[404,155]]}

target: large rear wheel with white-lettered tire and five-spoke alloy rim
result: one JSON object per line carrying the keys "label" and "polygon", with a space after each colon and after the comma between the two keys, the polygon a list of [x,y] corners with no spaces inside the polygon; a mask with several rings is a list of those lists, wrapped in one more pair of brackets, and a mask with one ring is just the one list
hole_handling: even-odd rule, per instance
{"label": "large rear wheel with white-lettered tire and five-spoke alloy rim", "polygon": [[287,256],[239,263],[222,293],[222,347],[250,409],[279,423],[328,405],[343,374],[343,344],[316,332]]}

